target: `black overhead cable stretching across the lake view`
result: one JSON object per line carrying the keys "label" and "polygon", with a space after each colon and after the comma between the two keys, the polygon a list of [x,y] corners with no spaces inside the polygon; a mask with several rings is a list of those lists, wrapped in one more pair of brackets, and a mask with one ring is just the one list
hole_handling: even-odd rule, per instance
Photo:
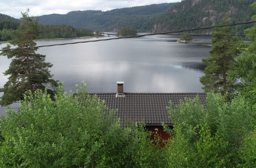
{"label": "black overhead cable stretching across the lake view", "polygon": [[250,23],[255,23],[255,22],[256,21],[248,21],[248,22],[240,22],[240,23],[233,23],[233,24],[214,25],[214,26],[209,26],[209,27],[199,27],[199,28],[196,28],[196,29],[187,29],[187,30],[172,31],[172,32],[144,34],[144,35],[139,35],[139,36],[116,37],[116,38],[100,39],[100,40],[78,41],[78,42],[73,42],[73,43],[40,45],[40,46],[34,46],[34,47],[0,49],[0,51],[8,51],[8,50],[16,50],[16,49],[28,49],[28,48],[40,48],[40,47],[52,47],[52,46],[60,46],[60,45],[79,44],[79,43],[91,43],[91,42],[98,42],[98,41],[109,41],[109,40],[128,39],[128,38],[138,38],[138,37],[144,37],[144,36],[164,35],[164,34],[172,34],[172,33],[181,33],[181,32],[189,32],[189,31],[213,29],[213,28],[217,28],[217,27],[226,27],[226,26],[233,26],[233,25],[250,24]]}

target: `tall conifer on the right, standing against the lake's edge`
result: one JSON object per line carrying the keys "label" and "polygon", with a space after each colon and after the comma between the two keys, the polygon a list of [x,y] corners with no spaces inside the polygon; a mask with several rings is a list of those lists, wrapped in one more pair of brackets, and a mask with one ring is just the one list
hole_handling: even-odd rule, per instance
{"label": "tall conifer on the right, standing against the lake's edge", "polygon": [[[228,24],[224,17],[221,24]],[[229,80],[228,71],[236,66],[235,57],[241,53],[241,38],[232,36],[234,31],[230,26],[219,27],[212,33],[212,49],[209,51],[211,57],[203,59],[206,65],[204,76],[200,82],[204,85],[205,92],[213,91],[221,94],[232,94],[234,92],[234,81]]]}

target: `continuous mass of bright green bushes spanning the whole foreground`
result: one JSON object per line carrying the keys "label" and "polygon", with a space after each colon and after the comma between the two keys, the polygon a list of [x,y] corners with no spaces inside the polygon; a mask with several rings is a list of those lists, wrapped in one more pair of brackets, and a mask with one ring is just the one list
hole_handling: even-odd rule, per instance
{"label": "continuous mass of bright green bushes spanning the whole foreground", "polygon": [[254,167],[253,111],[242,96],[224,100],[209,93],[205,108],[198,98],[168,107],[175,136],[163,146],[143,124],[122,128],[84,83],[76,95],[60,85],[55,101],[46,90],[29,92],[0,120],[0,166]]}

